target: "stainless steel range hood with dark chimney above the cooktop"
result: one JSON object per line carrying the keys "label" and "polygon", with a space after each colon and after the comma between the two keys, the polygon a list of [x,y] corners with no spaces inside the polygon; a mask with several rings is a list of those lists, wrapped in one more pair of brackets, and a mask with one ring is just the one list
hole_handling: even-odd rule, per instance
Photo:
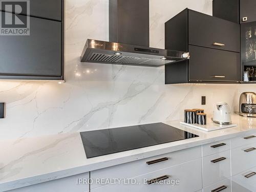
{"label": "stainless steel range hood with dark chimney above the cooktop", "polygon": [[181,51],[150,48],[149,0],[109,0],[110,42],[87,39],[81,62],[160,67],[185,60]]}

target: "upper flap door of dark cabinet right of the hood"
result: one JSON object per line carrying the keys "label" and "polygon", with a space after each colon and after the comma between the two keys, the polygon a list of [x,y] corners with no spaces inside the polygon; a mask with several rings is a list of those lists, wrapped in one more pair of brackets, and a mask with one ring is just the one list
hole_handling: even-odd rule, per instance
{"label": "upper flap door of dark cabinet right of the hood", "polygon": [[192,10],[188,19],[188,44],[240,52],[239,24]]}

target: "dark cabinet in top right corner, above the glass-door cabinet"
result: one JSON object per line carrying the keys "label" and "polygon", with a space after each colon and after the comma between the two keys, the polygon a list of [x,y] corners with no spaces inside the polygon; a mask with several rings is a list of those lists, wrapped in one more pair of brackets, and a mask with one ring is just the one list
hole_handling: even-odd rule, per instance
{"label": "dark cabinet in top right corner, above the glass-door cabinet", "polygon": [[212,15],[235,23],[256,22],[255,0],[213,0]]}

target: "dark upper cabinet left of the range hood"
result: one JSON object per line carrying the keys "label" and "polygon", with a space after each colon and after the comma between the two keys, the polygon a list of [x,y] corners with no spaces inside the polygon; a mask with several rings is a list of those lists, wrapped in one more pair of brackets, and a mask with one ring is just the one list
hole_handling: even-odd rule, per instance
{"label": "dark upper cabinet left of the range hood", "polygon": [[[29,33],[0,35],[0,79],[64,80],[63,1],[30,0],[30,14],[21,7],[20,14],[12,13],[17,11],[15,5],[2,6],[0,11],[17,21],[8,23],[7,19],[8,30],[25,29]],[[23,28],[24,23],[27,28]]]}

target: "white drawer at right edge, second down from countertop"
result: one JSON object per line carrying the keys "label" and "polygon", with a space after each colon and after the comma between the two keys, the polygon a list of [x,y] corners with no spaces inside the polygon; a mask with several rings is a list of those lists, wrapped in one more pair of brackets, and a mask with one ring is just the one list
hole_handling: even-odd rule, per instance
{"label": "white drawer at right edge, second down from countertop", "polygon": [[256,166],[256,143],[231,150],[231,173],[237,175]]}

